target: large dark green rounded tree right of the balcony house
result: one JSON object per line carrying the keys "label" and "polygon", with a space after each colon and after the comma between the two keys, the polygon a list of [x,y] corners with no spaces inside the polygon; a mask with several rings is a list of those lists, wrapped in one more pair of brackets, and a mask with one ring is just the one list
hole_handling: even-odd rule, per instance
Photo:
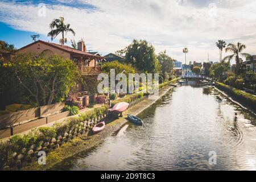
{"label": "large dark green rounded tree right of the balcony house", "polygon": [[155,48],[146,40],[133,40],[129,46],[118,52],[119,55],[125,55],[125,63],[131,64],[139,71],[147,73],[159,73],[160,71]]}

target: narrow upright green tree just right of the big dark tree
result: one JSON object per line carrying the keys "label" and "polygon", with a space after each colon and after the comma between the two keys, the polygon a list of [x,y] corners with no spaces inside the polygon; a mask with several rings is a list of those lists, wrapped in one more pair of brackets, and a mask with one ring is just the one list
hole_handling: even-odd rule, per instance
{"label": "narrow upright green tree just right of the big dark tree", "polygon": [[166,51],[160,52],[157,58],[161,67],[161,76],[163,80],[168,80],[174,73],[174,60],[166,54]]}

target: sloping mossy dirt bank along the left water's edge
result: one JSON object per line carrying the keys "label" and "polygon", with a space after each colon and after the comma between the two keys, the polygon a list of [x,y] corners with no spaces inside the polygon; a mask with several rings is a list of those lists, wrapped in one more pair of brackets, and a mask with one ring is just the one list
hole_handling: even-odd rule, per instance
{"label": "sloping mossy dirt bank along the left water's edge", "polygon": [[[131,107],[125,113],[137,115],[141,113],[144,109],[154,104],[159,98],[164,96],[167,92],[170,92],[174,87],[166,86],[159,90],[159,96],[156,97],[154,100],[144,100],[139,104]],[[81,135],[73,140],[70,140],[67,143],[64,143],[63,146],[57,148],[56,150],[47,154],[46,157],[46,164],[39,165],[37,162],[30,164],[27,167],[22,168],[21,170],[35,170],[35,171],[42,171],[48,170],[54,167],[56,164],[62,162],[65,159],[71,158],[73,155],[79,154],[82,151],[89,151],[92,148],[97,147],[99,144],[104,142],[109,136],[111,136],[115,131],[121,129],[122,125],[126,123],[127,120],[125,118],[116,119],[110,123],[108,123],[105,127],[105,130],[99,134],[91,135],[90,133]]]}

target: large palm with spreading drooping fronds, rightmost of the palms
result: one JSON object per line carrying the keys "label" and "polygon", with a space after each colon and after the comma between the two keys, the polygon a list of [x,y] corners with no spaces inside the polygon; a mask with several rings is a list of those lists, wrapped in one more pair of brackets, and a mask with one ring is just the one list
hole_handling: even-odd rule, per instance
{"label": "large palm with spreading drooping fronds, rightmost of the palms", "polygon": [[237,45],[236,44],[228,44],[228,46],[226,47],[226,52],[232,52],[233,54],[232,55],[229,55],[229,56],[226,56],[226,57],[224,57],[224,61],[225,60],[228,60],[228,61],[230,61],[230,60],[232,60],[232,59],[236,59],[236,75],[239,75],[239,73],[240,73],[240,62],[239,62],[239,56],[241,55],[241,56],[243,56],[243,57],[246,57],[246,56],[248,56],[248,57],[251,57],[251,55],[249,55],[249,53],[242,53],[242,51],[244,50],[246,48],[246,46],[245,45],[243,45],[243,44],[241,44],[240,42],[238,42],[237,43]]}

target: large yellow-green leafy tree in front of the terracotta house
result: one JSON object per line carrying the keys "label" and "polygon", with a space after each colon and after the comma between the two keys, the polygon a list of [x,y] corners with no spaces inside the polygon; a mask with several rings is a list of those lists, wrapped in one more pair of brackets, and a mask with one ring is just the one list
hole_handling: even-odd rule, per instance
{"label": "large yellow-green leafy tree in front of the terracotta house", "polygon": [[6,68],[26,90],[27,102],[38,106],[63,101],[79,78],[76,64],[57,55],[18,54]]}

